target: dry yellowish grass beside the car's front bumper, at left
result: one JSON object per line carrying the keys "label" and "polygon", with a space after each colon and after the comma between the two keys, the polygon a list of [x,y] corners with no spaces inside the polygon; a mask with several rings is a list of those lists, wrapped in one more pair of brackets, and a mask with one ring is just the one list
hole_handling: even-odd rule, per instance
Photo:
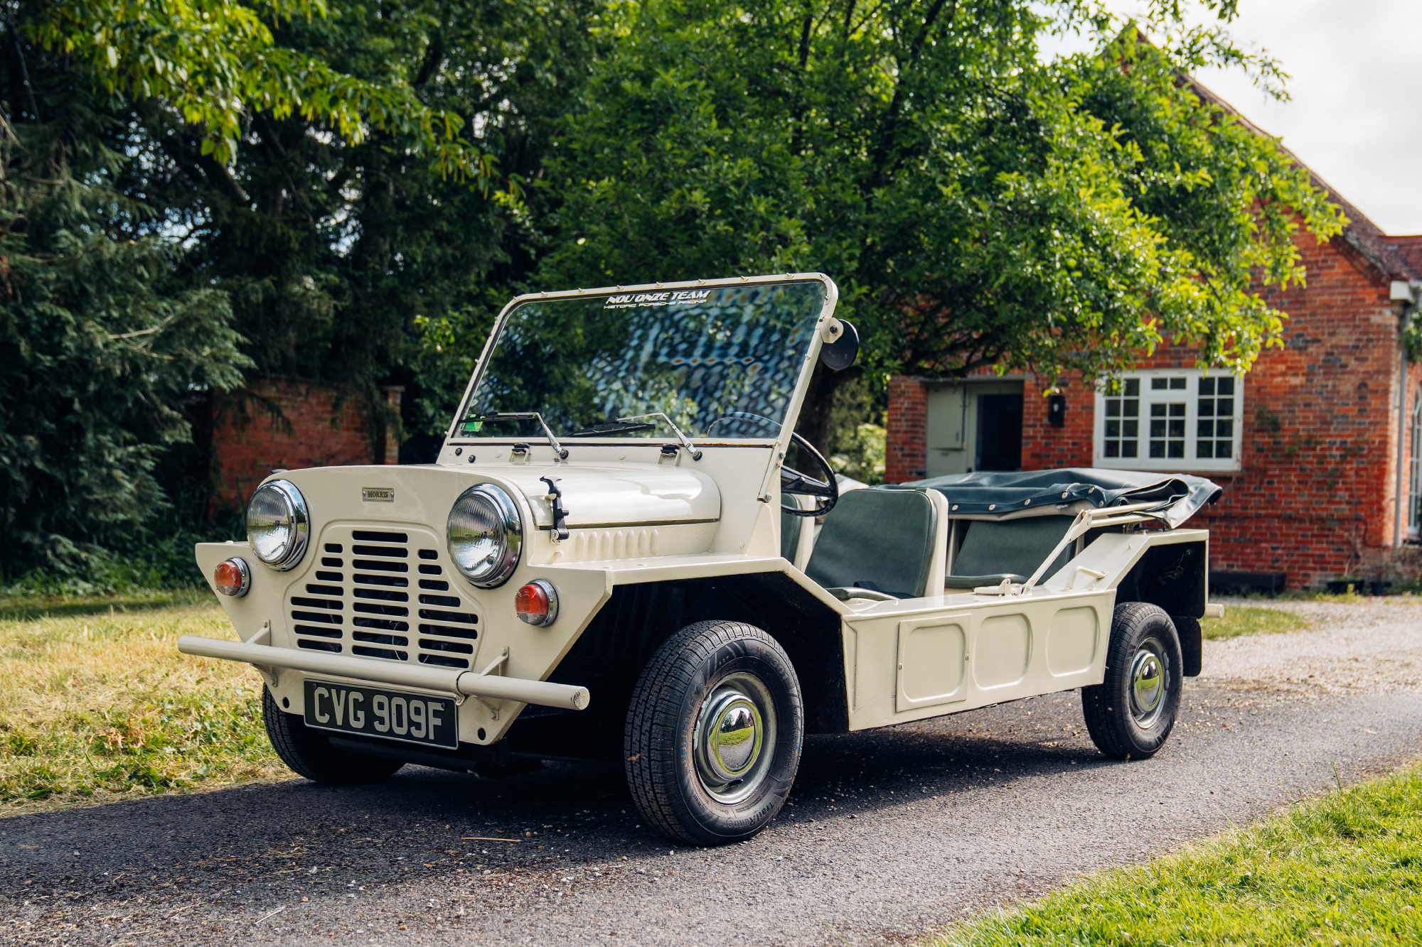
{"label": "dry yellowish grass beside the car's front bumper, at left", "polygon": [[0,600],[0,808],[284,774],[256,673],[179,654],[182,634],[230,637],[210,593]]}

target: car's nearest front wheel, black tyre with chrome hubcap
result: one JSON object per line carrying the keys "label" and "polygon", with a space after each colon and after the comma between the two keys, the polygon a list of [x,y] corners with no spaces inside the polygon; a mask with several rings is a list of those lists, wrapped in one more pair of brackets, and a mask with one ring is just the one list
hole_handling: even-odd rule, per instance
{"label": "car's nearest front wheel, black tyre with chrome hubcap", "polygon": [[641,673],[627,712],[627,785],[643,816],[688,845],[748,839],[781,810],[799,769],[799,680],[769,634],[698,621]]}

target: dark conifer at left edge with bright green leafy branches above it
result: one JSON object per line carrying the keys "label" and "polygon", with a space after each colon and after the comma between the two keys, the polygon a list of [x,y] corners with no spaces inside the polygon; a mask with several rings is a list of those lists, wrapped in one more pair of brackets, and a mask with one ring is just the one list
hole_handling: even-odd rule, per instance
{"label": "dark conifer at left edge with bright green leafy branches above it", "polygon": [[210,209],[152,199],[168,139],[193,141],[185,171],[235,198],[228,162],[253,115],[331,142],[380,135],[449,179],[488,179],[491,162],[398,78],[279,46],[267,24],[319,24],[319,0],[0,10],[0,572],[14,574],[73,569],[151,523],[166,505],[155,468],[189,437],[183,400],[253,364],[229,294],[183,266],[183,215]]}

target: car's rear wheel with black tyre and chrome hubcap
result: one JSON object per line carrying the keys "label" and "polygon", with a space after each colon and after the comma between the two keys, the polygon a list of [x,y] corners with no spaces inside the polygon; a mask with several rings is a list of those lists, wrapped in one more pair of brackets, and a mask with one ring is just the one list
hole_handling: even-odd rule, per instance
{"label": "car's rear wheel with black tyre and chrome hubcap", "polygon": [[1106,648],[1106,680],[1081,688],[1086,731],[1116,759],[1155,755],[1180,711],[1180,640],[1170,616],[1153,604],[1116,606]]}

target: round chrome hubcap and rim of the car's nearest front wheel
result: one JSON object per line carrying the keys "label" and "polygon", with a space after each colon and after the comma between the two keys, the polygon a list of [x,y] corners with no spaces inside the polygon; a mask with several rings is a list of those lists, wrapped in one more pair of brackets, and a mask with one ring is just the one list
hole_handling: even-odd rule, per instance
{"label": "round chrome hubcap and rim of the car's nearest front wheel", "polygon": [[759,678],[732,674],[701,704],[695,734],[697,776],[718,802],[751,795],[769,768],[775,708]]}

